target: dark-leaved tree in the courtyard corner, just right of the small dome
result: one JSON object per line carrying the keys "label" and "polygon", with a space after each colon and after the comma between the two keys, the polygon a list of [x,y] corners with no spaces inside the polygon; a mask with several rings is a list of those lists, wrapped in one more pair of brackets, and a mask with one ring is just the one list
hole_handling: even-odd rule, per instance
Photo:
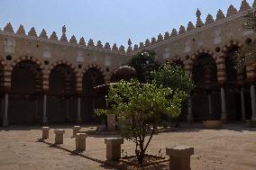
{"label": "dark-leaved tree in the courtyard corner, just right of the small dome", "polygon": [[160,68],[160,63],[155,58],[152,50],[142,50],[130,59],[128,65],[137,72],[137,78],[141,83],[151,81],[151,72]]}

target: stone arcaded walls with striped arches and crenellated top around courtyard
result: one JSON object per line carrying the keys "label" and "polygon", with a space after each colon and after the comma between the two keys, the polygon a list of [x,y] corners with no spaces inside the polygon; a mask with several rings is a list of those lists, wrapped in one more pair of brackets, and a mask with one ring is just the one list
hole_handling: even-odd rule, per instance
{"label": "stone arcaded walls with striped arches and crenellated top around courtyard", "polygon": [[128,49],[100,40],[79,41],[66,37],[62,28],[48,36],[23,25],[14,32],[11,23],[0,31],[0,82],[2,124],[101,121],[95,108],[105,107],[96,85],[111,82],[114,70],[142,49],[153,49],[161,63],[178,64],[193,76],[197,87],[188,100],[188,121],[208,117],[224,121],[256,121],[256,69],[251,63],[242,72],[233,69],[233,54],[255,40],[252,31],[242,30],[242,15],[256,6],[242,0],[239,10],[230,5],[206,22],[197,10],[197,23],[188,22]]}

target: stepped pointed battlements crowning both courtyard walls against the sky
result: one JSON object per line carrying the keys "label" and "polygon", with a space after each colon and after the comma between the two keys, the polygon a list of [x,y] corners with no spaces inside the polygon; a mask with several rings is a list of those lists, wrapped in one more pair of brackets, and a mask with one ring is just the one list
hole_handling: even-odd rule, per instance
{"label": "stepped pointed battlements crowning both courtyard walls against the sky", "polygon": [[[170,33],[169,31],[166,31],[164,33],[160,33],[157,38],[152,37],[151,40],[147,39],[144,42],[140,42],[140,44],[134,44],[132,47],[132,41],[128,41],[128,48],[125,49],[123,45],[120,47],[116,46],[116,43],[111,47],[109,42],[105,42],[105,45],[102,44],[101,40],[95,40],[90,39],[86,42],[86,40],[81,37],[79,41],[77,40],[75,35],[72,35],[71,38],[68,40],[66,36],[66,26],[64,25],[62,27],[62,35],[60,38],[58,38],[56,31],[53,31],[51,34],[48,34],[45,29],[42,29],[41,33],[38,35],[38,33],[35,31],[34,27],[28,33],[24,30],[23,24],[20,25],[17,31],[14,31],[14,28],[12,26],[11,22],[8,22],[5,27],[4,31],[0,30],[0,33],[10,33],[19,35],[22,37],[30,37],[32,39],[38,39],[38,40],[48,40],[52,43],[61,43],[63,45],[71,45],[73,47],[78,46],[79,48],[88,48],[88,49],[104,49],[104,50],[110,50],[114,52],[119,53],[126,53],[127,55],[133,55],[133,52],[137,52],[140,49],[148,49],[151,48],[151,46],[159,45],[162,43],[166,43],[169,40],[177,40],[178,37],[186,36],[191,33],[197,33],[197,31],[202,31],[204,29],[207,29],[209,27],[213,27],[217,24],[228,22],[232,19],[241,17],[245,13],[248,13],[248,11],[253,10],[256,6],[256,0],[252,5],[248,4],[246,0],[242,0],[240,9],[237,10],[233,4],[231,4],[227,10],[227,13],[224,14],[222,10],[218,10],[215,19],[212,14],[207,14],[206,16],[206,22],[203,22],[201,20],[201,12],[199,9],[197,9],[197,22],[194,24],[193,22],[187,23],[187,28],[184,25],[181,25],[179,29],[173,29]],[[50,35],[50,36],[49,36]]]}

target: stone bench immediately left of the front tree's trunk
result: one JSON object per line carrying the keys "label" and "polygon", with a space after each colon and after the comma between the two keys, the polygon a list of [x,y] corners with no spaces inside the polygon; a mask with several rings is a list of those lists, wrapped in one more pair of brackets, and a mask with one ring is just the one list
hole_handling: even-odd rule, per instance
{"label": "stone bench immediately left of the front tree's trunk", "polygon": [[106,160],[118,161],[121,158],[121,144],[123,144],[123,139],[121,138],[105,139],[105,144],[106,144]]}

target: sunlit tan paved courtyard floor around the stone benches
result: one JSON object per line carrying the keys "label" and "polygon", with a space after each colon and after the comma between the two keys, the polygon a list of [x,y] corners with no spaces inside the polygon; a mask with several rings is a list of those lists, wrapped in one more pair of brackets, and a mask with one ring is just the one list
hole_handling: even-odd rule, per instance
{"label": "sunlit tan paved courtyard floor around the stone benches", "polygon": [[[62,147],[74,150],[75,139],[71,138],[71,127],[65,125],[50,128],[66,130]],[[196,127],[180,128],[176,132],[154,136],[149,153],[158,155],[161,149],[161,154],[165,156],[166,147],[187,145],[195,148],[195,155],[191,157],[193,170],[256,170],[256,129],[244,128],[243,124],[224,125],[223,130]],[[105,169],[95,161],[37,142],[41,138],[40,129],[39,126],[0,128],[0,170]],[[82,130],[88,129],[90,128],[83,127]],[[89,137],[85,154],[105,160],[106,137],[112,136]],[[51,130],[49,141],[53,140],[54,134]],[[124,141],[122,148],[128,155],[133,154],[133,143]]]}

